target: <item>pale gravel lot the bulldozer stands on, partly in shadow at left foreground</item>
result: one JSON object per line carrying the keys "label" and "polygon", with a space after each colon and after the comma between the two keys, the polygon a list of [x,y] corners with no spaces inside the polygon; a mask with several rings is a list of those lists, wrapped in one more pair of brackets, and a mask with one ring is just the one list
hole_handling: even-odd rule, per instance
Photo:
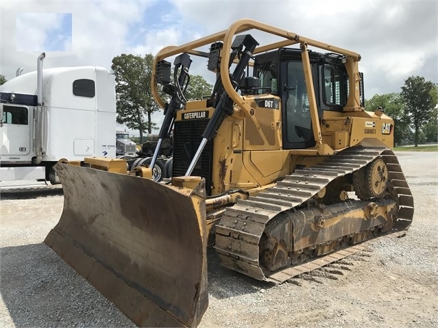
{"label": "pale gravel lot the bulldozer stands on, partly in shadow at left foreground", "polygon": [[[201,327],[438,327],[438,154],[397,153],[415,197],[403,238],[380,238],[279,286],[219,265],[208,252]],[[62,190],[2,192],[0,327],[135,327],[45,244]]]}

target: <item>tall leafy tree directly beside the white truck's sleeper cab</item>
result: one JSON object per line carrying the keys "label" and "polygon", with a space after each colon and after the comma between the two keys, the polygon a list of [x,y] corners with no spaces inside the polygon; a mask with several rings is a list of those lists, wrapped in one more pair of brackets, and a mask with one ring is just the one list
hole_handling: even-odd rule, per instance
{"label": "tall leafy tree directly beside the white truck's sleeper cab", "polygon": [[126,55],[112,59],[112,70],[116,79],[117,123],[138,130],[140,140],[143,133],[156,129],[151,121],[152,113],[159,110],[151,92],[151,75],[154,56],[150,53]]}

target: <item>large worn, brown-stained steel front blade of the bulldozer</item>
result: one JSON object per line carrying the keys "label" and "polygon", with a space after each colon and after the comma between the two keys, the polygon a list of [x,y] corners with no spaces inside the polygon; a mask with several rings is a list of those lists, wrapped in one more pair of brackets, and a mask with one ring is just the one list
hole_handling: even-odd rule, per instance
{"label": "large worn, brown-stained steel front blade of the bulldozer", "polygon": [[64,210],[45,244],[141,327],[208,307],[204,179],[193,190],[58,163]]}

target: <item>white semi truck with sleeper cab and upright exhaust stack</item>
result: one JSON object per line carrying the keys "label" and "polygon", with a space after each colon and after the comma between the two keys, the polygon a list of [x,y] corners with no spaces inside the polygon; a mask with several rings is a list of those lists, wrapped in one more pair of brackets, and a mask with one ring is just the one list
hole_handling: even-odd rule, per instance
{"label": "white semi truck with sleeper cab and upright exhaust stack", "polygon": [[58,160],[116,157],[114,75],[95,66],[43,70],[44,58],[0,86],[0,181],[57,184]]}

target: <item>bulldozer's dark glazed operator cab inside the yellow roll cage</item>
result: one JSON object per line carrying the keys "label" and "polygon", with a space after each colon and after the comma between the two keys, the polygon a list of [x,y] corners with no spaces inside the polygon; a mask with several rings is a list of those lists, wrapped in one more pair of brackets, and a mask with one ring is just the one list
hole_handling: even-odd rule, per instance
{"label": "bulldozer's dark glazed operator cab inside the yellow roll cage", "polygon": [[[324,110],[341,112],[348,99],[348,74],[343,57],[314,51],[309,51],[308,55],[318,116],[321,118]],[[254,77],[247,77],[241,90],[245,94],[274,94],[280,97],[283,149],[315,146],[300,49],[282,48],[256,55]],[[361,99],[363,101],[363,92]]]}

